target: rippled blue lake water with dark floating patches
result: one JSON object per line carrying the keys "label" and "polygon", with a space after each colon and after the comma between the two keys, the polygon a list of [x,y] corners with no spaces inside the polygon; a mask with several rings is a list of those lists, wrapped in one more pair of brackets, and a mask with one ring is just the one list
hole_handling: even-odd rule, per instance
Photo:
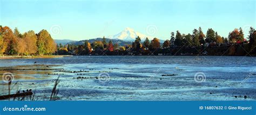
{"label": "rippled blue lake water with dark floating patches", "polygon": [[[6,72],[14,74],[12,93],[32,89],[36,100],[49,100],[58,76],[57,100],[256,100],[256,57],[250,56],[0,60],[0,75]],[[8,83],[2,81],[5,94]]]}

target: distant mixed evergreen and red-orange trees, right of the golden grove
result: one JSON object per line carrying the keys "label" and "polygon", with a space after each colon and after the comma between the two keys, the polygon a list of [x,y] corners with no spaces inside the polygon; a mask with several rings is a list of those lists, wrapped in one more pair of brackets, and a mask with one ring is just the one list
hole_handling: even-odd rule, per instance
{"label": "distant mixed evergreen and red-orange trees, right of the golden grove", "polygon": [[[253,27],[250,27],[248,32],[248,40],[244,37],[242,28],[235,28],[228,34],[228,38],[221,37],[218,32],[215,32],[212,28],[208,28],[206,34],[203,33],[201,27],[194,29],[192,34],[181,34],[179,31],[176,33],[171,32],[170,40],[165,40],[163,44],[160,44],[158,38],[149,40],[146,38],[143,42],[140,37],[137,37],[131,45],[119,46],[118,44],[112,44],[110,40],[106,42],[105,37],[102,41],[88,42],[85,41],[84,45],[72,45],[68,44],[63,46],[58,45],[58,54],[73,54],[73,55],[151,55],[151,54],[169,54],[180,55],[190,53],[191,55],[197,53],[203,53],[208,51],[211,55],[225,53],[228,47],[233,51],[228,51],[228,54],[234,55],[239,47],[246,50],[247,53],[255,55],[256,46],[256,31]],[[196,52],[191,52],[193,51]],[[239,51],[240,52],[240,51]],[[239,54],[244,55],[244,54]]]}

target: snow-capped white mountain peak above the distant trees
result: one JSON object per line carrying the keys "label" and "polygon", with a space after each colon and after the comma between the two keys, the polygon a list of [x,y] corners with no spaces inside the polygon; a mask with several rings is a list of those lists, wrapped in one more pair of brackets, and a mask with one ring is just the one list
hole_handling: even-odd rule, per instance
{"label": "snow-capped white mountain peak above the distant trees", "polygon": [[126,27],[125,30],[123,30],[122,32],[120,32],[116,35],[110,36],[109,38],[111,38],[111,39],[120,39],[120,40],[123,40],[123,41],[134,41],[135,38],[138,37],[138,36],[140,37],[140,39],[142,39],[142,41],[144,41],[146,39],[146,37],[149,38],[149,40],[153,39],[152,37],[150,37],[148,35],[145,35],[145,34],[134,31],[130,27]]}

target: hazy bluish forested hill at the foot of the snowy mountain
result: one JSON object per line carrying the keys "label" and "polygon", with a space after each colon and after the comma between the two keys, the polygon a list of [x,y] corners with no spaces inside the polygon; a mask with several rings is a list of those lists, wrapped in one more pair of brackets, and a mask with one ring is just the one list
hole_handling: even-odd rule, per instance
{"label": "hazy bluish forested hill at the foot of the snowy mountain", "polygon": [[[106,42],[109,42],[110,40],[112,41],[113,44],[117,43],[119,46],[125,46],[125,45],[132,44],[131,41],[123,41],[123,40],[119,40],[119,39],[109,39],[109,38],[106,38]],[[69,42],[68,44],[84,45],[85,41],[86,40],[72,41],[72,42]],[[87,41],[90,42],[90,43],[95,42],[95,41],[103,41],[103,38],[89,39]]]}

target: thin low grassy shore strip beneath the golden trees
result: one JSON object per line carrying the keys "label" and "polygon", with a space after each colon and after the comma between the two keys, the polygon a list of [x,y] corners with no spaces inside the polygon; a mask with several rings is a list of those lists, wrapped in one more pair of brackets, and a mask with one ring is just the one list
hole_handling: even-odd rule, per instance
{"label": "thin low grassy shore strip beneath the golden trees", "polygon": [[0,60],[4,59],[40,59],[40,58],[63,58],[73,55],[45,55],[45,56],[18,56],[18,55],[11,55],[11,56],[0,56]]}

